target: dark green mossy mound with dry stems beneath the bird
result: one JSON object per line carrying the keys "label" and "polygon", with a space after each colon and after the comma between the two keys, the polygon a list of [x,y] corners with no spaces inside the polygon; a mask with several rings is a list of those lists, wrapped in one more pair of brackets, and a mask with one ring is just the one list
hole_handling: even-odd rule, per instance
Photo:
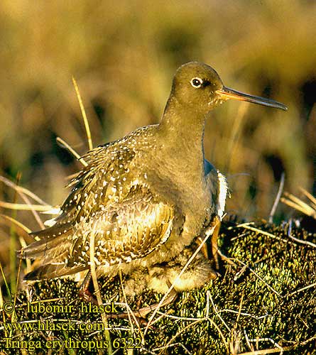
{"label": "dark green mossy mound with dry stems beneath the bird", "polygon": [[[316,354],[316,235],[300,226],[293,226],[290,233],[288,229],[288,224],[224,223],[219,244],[229,260],[222,261],[222,276],[203,288],[181,293],[173,304],[161,308],[165,315],[156,315],[159,320],[148,328],[142,345],[146,324],[138,329],[135,322],[109,318],[114,354],[242,354],[264,349]],[[120,299],[119,279],[99,283],[103,283],[102,300]],[[128,303],[137,310],[161,297],[148,292]],[[53,312],[49,307],[30,312],[29,300],[31,305],[63,305],[60,310],[72,307],[70,312]],[[26,326],[13,328],[10,334],[1,324],[0,354],[31,354],[37,345],[34,354],[107,354],[106,335],[97,328],[103,324],[101,315],[82,312],[88,310],[85,306],[77,283],[71,280],[43,281],[21,290],[16,297],[17,324],[36,325],[28,325],[27,330]],[[116,312],[120,310],[124,306],[117,306]],[[4,313],[4,320],[8,328],[9,313]],[[45,329],[38,330],[38,324]],[[68,325],[59,329],[62,325],[57,324]],[[4,339],[9,336],[11,343]],[[10,344],[15,347],[8,348]],[[19,349],[26,344],[24,352]]]}

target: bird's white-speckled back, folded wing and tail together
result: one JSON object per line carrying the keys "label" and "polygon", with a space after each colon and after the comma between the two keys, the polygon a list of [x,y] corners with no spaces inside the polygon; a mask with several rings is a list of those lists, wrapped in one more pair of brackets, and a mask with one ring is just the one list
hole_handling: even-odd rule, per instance
{"label": "bird's white-speckled back, folded wing and tail together", "polygon": [[89,243],[104,273],[111,266],[145,258],[170,236],[179,236],[184,216],[178,190],[157,174],[157,126],[147,126],[84,156],[88,165],[70,185],[60,216],[21,255],[41,258],[28,275],[51,278],[89,268]]}

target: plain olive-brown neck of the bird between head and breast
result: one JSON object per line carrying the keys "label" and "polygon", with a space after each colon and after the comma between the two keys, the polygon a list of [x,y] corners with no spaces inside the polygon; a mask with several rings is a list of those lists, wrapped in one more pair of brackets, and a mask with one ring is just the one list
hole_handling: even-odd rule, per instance
{"label": "plain olive-brown neck of the bird between head and breast", "polygon": [[[183,105],[171,97],[165,107],[163,119],[159,124],[159,133],[166,150],[174,159],[180,158],[182,164],[204,169],[204,126],[205,114]],[[182,165],[183,167],[183,165]]]}

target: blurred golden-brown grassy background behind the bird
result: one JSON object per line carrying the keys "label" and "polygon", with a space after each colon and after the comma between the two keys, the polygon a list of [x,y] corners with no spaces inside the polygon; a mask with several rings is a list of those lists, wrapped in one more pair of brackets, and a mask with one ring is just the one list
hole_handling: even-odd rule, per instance
{"label": "blurred golden-brown grassy background behind the bird", "polygon": [[[56,136],[87,151],[71,76],[97,146],[158,122],[178,65],[200,60],[228,87],[289,107],[229,102],[207,122],[205,154],[232,190],[227,211],[268,217],[283,171],[285,190],[315,194],[315,16],[307,0],[2,0],[0,174],[21,172],[21,185],[60,204],[80,164]],[[0,195],[13,198],[3,185]],[[278,218],[290,213],[278,206]],[[18,218],[38,229],[30,213]]]}

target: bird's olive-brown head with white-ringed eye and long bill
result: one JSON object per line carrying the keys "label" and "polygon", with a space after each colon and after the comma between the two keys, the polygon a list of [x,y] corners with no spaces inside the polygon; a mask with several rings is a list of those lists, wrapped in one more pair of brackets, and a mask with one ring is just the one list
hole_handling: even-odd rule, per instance
{"label": "bird's olive-brown head with white-ringed eye and long bill", "polygon": [[218,104],[229,99],[252,102],[275,109],[288,109],[280,102],[224,87],[217,72],[209,65],[200,62],[189,62],[179,67],[173,79],[172,94],[184,107],[192,107],[202,114],[207,114]]}

